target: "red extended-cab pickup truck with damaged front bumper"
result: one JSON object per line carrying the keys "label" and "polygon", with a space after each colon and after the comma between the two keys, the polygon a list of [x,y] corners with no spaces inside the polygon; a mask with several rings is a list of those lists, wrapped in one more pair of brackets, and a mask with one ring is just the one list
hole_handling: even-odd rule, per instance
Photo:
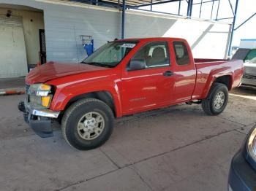
{"label": "red extended-cab pickup truck with damaged front bumper", "polygon": [[93,149],[109,139],[116,117],[184,102],[220,114],[243,70],[242,61],[194,59],[185,39],[116,40],[81,63],[30,71],[18,107],[39,136],[53,136],[51,123],[59,120],[70,145]]}

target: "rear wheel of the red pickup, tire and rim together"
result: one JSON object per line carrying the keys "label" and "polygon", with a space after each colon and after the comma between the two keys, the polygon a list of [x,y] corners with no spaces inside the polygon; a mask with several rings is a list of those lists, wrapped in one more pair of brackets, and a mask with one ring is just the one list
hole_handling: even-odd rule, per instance
{"label": "rear wheel of the red pickup, tire and rim together", "polygon": [[217,115],[223,112],[227,106],[228,90],[227,86],[214,83],[206,99],[202,101],[203,111],[208,115]]}

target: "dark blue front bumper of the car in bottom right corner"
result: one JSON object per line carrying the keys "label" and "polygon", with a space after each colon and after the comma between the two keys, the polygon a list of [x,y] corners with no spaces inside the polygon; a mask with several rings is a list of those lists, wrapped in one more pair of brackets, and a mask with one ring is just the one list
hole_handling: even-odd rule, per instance
{"label": "dark blue front bumper of the car in bottom right corner", "polygon": [[241,149],[233,157],[228,178],[229,191],[256,190],[256,171],[246,161]]}

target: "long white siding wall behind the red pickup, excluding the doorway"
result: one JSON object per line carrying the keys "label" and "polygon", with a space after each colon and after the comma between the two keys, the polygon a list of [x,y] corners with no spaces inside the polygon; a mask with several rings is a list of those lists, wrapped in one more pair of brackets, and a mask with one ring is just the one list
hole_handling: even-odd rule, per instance
{"label": "long white siding wall behind the red pickup, excluding the doorway", "polygon": [[[49,1],[0,0],[44,10],[48,61],[78,62],[86,57],[80,35],[93,36],[95,47],[121,36],[121,12]],[[127,11],[125,37],[183,37],[197,58],[225,58],[230,25]]]}

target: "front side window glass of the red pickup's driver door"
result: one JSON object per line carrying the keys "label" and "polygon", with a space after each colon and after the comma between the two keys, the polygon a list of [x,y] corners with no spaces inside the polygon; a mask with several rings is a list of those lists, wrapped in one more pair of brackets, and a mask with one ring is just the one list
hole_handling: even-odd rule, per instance
{"label": "front side window glass of the red pickup's driver door", "polygon": [[146,68],[169,66],[170,56],[167,42],[150,42],[138,50],[133,61],[145,61]]}

